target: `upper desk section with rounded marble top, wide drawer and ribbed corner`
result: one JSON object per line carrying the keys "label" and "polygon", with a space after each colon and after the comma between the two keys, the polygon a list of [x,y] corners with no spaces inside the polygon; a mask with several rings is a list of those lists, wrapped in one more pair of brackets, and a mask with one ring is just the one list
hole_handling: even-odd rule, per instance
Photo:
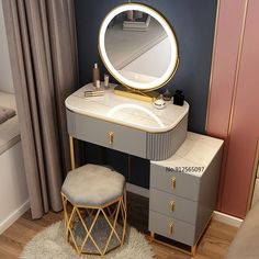
{"label": "upper desk section with rounded marble top, wide drawer and ribbed corner", "polygon": [[110,83],[102,97],[85,98],[89,83],[66,100],[68,133],[92,144],[149,160],[164,160],[184,142],[189,104],[151,103],[120,97]]}

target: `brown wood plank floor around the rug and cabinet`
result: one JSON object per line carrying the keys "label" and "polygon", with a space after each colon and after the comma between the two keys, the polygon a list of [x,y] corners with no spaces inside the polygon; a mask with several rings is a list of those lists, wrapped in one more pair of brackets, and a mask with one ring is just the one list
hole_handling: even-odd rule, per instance
{"label": "brown wood plank floor around the rug and cabinet", "polygon": [[[135,195],[132,195],[132,199],[130,200],[131,202],[128,204],[128,209],[132,206],[133,210],[128,211],[134,212],[135,207],[133,204],[139,204],[139,201],[138,203],[134,202],[136,200]],[[144,204],[146,204],[145,201]],[[146,214],[145,205],[137,205],[136,209],[138,210],[138,213],[133,213],[133,215],[140,215],[138,218],[146,218],[146,216],[144,216]],[[30,212],[26,212],[11,227],[0,235],[0,259],[18,258],[29,240],[31,240],[37,233],[50,224],[60,221],[61,218],[63,213],[50,212],[41,219],[32,221]],[[146,232],[145,224],[147,221],[145,221],[145,223],[142,225],[139,219],[134,218],[134,216],[131,217],[131,214],[128,215],[128,218],[133,218],[132,221],[135,222],[133,225],[139,227],[142,232]],[[236,227],[212,221],[199,244],[195,257],[184,255],[172,248],[156,243],[151,243],[151,247],[157,259],[221,259],[226,255],[228,246],[236,232]]]}

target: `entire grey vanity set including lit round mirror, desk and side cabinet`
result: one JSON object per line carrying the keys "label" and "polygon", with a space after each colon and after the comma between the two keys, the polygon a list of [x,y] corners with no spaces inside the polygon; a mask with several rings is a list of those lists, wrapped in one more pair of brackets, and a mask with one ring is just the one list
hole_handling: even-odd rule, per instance
{"label": "entire grey vanity set including lit round mirror, desk and side cabinet", "polygon": [[[144,44],[149,46],[144,53],[138,53],[136,57],[130,55],[134,56],[134,60],[127,58],[128,48],[125,49],[126,55],[122,59],[130,60],[130,64],[116,68],[111,58],[116,53],[116,46],[105,45],[115,40],[105,42],[105,35],[109,35],[106,31],[114,24],[116,30],[123,27],[116,22],[123,23],[121,16],[125,19],[127,11],[144,12],[158,21],[168,41],[166,46],[158,42],[151,48],[150,44]],[[135,26],[135,31],[132,30],[131,38],[135,41],[134,44],[139,43],[139,36],[145,35],[139,34],[137,26],[140,24],[133,21],[132,26]],[[166,52],[170,60],[164,64],[160,75],[155,77],[153,71],[156,63],[143,61],[150,60],[151,56],[146,58],[146,55],[154,55],[157,49]],[[135,92],[145,95],[161,87],[170,80],[179,65],[178,44],[171,25],[154,9],[138,3],[122,4],[106,15],[100,30],[99,50],[108,70],[126,86],[130,95]],[[123,55],[123,46],[120,52]],[[159,57],[156,56],[157,59]],[[133,69],[137,66],[146,67],[139,74]],[[158,110],[151,102],[115,94],[114,89],[116,86],[110,83],[104,95],[86,98],[86,91],[94,90],[92,83],[88,83],[67,98],[71,165],[75,168],[74,138],[149,159],[148,229],[151,238],[184,244],[190,248],[189,252],[194,255],[196,244],[215,210],[223,140],[187,131],[187,102],[180,106],[169,101],[165,109]]]}

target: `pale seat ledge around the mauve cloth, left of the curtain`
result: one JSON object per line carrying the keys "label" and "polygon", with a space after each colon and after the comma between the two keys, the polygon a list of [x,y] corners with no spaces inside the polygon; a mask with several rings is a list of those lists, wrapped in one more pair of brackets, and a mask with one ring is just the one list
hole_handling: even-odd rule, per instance
{"label": "pale seat ledge around the mauve cloth, left of the curtain", "polygon": [[[15,97],[0,91],[0,105],[16,111]],[[0,124],[0,155],[20,140],[18,115]]]}

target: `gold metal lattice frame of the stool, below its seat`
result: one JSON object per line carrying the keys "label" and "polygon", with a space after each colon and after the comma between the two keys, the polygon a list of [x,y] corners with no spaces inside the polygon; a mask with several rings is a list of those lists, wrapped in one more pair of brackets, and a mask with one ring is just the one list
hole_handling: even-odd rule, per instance
{"label": "gold metal lattice frame of the stool, below its seat", "polygon": [[[88,255],[97,255],[97,256],[103,257],[109,251],[111,251],[120,246],[123,246],[125,233],[126,233],[126,218],[127,218],[125,188],[124,188],[124,192],[123,192],[122,196],[120,196],[120,198],[115,199],[114,201],[106,203],[102,206],[87,206],[87,205],[82,206],[82,205],[72,204],[64,193],[61,193],[61,199],[63,199],[64,215],[65,215],[66,240],[76,249],[78,255],[88,254]],[[69,204],[71,205],[70,212],[68,210]],[[111,211],[111,206],[115,206],[113,212]],[[106,212],[105,212],[105,210],[106,210]],[[121,236],[116,232],[116,224],[119,224],[117,219],[119,219],[120,212],[121,212],[121,216],[122,216],[122,227],[123,227]],[[93,216],[90,227],[87,227],[87,225],[83,221],[82,213],[85,213],[85,214],[87,213],[86,214],[87,216]],[[94,240],[94,238],[91,235],[91,232],[92,232],[95,223],[98,222],[99,216],[101,216],[101,215],[103,215],[108,225],[111,227],[111,233],[109,235],[109,238],[106,240],[106,244],[105,244],[103,250],[99,247],[99,245],[97,244],[97,241]],[[77,244],[76,236],[72,232],[74,225],[78,221],[81,222],[81,224],[86,230],[86,237],[82,240],[81,246],[79,246]],[[119,245],[114,246],[108,250],[108,247],[109,247],[109,244],[112,239],[113,234],[115,235],[116,239],[119,240]],[[83,247],[86,246],[86,244],[89,239],[91,239],[92,244],[94,245],[94,247],[97,248],[97,250],[99,252],[91,252],[91,251],[87,251],[83,249]]]}

